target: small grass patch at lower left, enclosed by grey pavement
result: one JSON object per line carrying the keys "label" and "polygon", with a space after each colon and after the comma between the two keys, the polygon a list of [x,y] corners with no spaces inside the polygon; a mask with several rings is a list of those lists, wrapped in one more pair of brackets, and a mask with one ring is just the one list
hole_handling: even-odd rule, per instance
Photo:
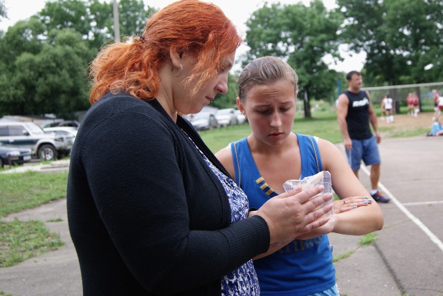
{"label": "small grass patch at lower left, enclosed by grey pavement", "polygon": [[49,232],[42,221],[0,221],[0,267],[13,266],[62,246],[60,236]]}

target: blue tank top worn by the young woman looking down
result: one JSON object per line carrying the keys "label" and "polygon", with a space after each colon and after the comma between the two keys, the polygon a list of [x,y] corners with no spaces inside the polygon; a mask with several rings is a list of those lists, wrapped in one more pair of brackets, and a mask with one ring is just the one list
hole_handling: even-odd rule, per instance
{"label": "blue tank top worn by the young woman looking down", "polygon": [[[300,179],[322,171],[316,140],[299,133],[297,138],[302,161]],[[246,138],[231,142],[230,148],[233,154],[235,182],[248,196],[250,207],[261,207],[277,194],[260,176]],[[261,295],[310,295],[326,290],[336,283],[332,251],[326,234],[314,239],[296,239],[281,250],[255,260],[254,266],[260,282]]]}

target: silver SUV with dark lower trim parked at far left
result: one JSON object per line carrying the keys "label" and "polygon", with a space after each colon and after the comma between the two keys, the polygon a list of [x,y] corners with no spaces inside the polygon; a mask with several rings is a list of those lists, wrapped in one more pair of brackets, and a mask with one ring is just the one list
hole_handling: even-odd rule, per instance
{"label": "silver SUV with dark lower trim parked at far left", "polygon": [[34,158],[43,160],[55,160],[72,149],[63,137],[45,133],[33,122],[0,122],[0,142],[29,148]]}

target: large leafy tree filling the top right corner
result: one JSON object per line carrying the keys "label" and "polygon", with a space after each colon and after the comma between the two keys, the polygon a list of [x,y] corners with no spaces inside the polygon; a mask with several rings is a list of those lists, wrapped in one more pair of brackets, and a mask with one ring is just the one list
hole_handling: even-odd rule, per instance
{"label": "large leafy tree filling the top right corner", "polygon": [[443,78],[439,70],[443,64],[442,1],[338,0],[337,4],[345,17],[341,38],[351,50],[365,51],[365,77],[374,84]]}

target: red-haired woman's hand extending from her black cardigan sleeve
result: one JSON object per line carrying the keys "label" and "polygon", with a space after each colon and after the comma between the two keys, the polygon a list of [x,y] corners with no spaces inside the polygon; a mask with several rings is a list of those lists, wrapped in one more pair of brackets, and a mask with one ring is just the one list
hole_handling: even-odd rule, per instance
{"label": "red-haired woman's hand extending from her black cardigan sleeve", "polygon": [[271,246],[292,240],[305,232],[310,232],[323,226],[329,221],[329,216],[323,216],[332,210],[332,203],[322,203],[332,198],[331,193],[321,194],[312,198],[324,189],[316,185],[303,192],[294,189],[275,196],[266,201],[254,214],[262,216],[268,223],[271,234]]}

